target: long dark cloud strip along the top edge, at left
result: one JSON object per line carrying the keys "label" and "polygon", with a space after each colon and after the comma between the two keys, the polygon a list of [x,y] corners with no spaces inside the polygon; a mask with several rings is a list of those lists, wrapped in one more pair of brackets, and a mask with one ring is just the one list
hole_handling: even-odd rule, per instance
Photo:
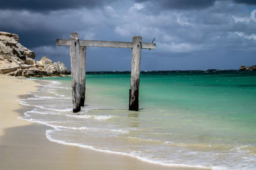
{"label": "long dark cloud strip along the top edge, at left", "polygon": [[3,10],[31,10],[31,11],[51,11],[74,8],[94,8],[111,0],[3,0],[0,9]]}

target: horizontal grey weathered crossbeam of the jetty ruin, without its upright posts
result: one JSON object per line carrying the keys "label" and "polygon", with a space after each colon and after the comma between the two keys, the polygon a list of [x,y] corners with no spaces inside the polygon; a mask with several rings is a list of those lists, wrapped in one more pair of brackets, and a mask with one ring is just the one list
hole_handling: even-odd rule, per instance
{"label": "horizontal grey weathered crossbeam of the jetty ruin, without its upright posts", "polygon": [[[70,39],[57,39],[56,45],[70,46]],[[81,46],[90,47],[112,47],[112,48],[133,48],[133,42],[120,42],[120,41],[95,41],[95,40],[80,40]],[[156,43],[142,43],[143,49],[156,49]]]}

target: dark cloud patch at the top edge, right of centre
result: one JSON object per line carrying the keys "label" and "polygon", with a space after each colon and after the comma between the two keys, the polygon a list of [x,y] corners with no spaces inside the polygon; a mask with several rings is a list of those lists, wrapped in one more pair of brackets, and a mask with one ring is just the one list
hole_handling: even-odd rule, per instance
{"label": "dark cloud patch at the top edge, right of centre", "polygon": [[136,0],[138,3],[150,2],[154,6],[161,6],[166,9],[177,9],[177,10],[186,10],[186,9],[203,9],[212,6],[216,0]]}

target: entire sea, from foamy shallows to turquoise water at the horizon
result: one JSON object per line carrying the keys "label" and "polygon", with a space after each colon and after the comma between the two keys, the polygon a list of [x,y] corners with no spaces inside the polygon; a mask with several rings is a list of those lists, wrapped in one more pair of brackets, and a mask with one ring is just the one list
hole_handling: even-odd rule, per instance
{"label": "entire sea, from foamy shallows to turquoise water at the horizon", "polygon": [[86,101],[72,113],[71,78],[36,78],[23,119],[54,142],[159,164],[256,169],[256,72],[141,72],[140,111],[128,111],[130,73],[86,73]]}

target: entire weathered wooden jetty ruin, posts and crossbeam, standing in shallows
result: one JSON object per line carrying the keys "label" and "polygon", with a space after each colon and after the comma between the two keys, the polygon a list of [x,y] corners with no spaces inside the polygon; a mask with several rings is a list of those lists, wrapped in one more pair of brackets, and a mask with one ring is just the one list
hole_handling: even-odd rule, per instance
{"label": "entire weathered wooden jetty ruin, posts and crossbeam, standing in shallows", "polygon": [[141,49],[156,49],[156,43],[142,43],[141,36],[134,36],[132,42],[95,41],[79,39],[79,33],[70,34],[70,39],[57,39],[56,45],[70,46],[73,113],[81,110],[85,98],[86,47],[131,48],[131,89],[129,90],[129,110],[139,110]]}

